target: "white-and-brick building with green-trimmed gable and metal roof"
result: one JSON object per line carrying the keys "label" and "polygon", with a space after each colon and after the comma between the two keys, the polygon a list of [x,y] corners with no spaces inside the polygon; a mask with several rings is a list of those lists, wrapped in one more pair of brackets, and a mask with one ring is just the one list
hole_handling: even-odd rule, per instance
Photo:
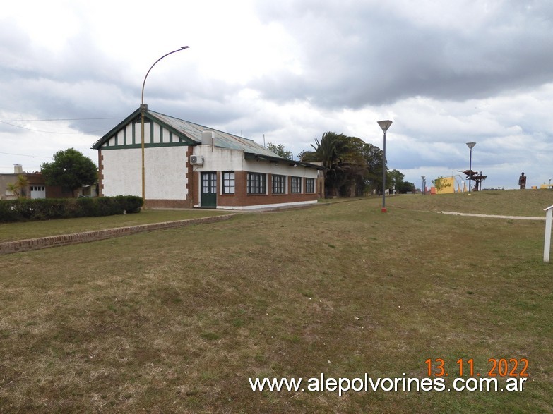
{"label": "white-and-brick building with green-trimmed gable and metal roof", "polygon": [[[316,203],[321,166],[278,157],[256,142],[145,111],[145,205],[258,209]],[[141,112],[93,144],[100,195],[142,196]]]}

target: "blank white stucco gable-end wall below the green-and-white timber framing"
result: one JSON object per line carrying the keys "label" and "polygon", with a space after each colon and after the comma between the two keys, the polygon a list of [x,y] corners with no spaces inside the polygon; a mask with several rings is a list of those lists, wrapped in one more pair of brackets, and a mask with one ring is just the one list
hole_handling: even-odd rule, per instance
{"label": "blank white stucco gable-end wall below the green-and-white timber framing", "polygon": [[[188,147],[145,149],[145,197],[149,200],[186,198],[186,150]],[[103,150],[103,194],[142,196],[140,148]]]}

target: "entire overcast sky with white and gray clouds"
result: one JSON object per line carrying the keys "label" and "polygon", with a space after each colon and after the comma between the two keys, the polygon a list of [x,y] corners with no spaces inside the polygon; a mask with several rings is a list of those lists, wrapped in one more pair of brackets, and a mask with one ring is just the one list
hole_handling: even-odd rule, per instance
{"label": "entire overcast sky with white and gray clouds", "polygon": [[[550,0],[20,0],[0,8],[0,173],[37,171],[149,109],[285,145],[382,147],[421,185],[553,178]],[[264,137],[264,138],[263,138]],[[460,179],[459,179],[460,180]]]}

